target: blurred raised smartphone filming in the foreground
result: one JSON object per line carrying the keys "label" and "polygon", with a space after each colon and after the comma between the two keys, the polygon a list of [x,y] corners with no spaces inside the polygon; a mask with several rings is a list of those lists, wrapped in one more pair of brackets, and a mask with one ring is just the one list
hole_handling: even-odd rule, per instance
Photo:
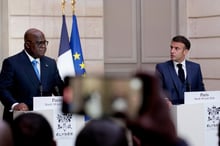
{"label": "blurred raised smartphone filming in the foreground", "polygon": [[66,77],[63,91],[65,113],[92,118],[117,113],[135,118],[142,103],[142,82],[129,77]]}

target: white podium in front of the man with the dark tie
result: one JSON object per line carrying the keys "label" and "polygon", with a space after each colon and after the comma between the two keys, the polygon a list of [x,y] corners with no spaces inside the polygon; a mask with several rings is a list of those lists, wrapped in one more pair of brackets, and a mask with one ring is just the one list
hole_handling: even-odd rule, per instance
{"label": "white podium in front of the man with the dark tie", "polygon": [[178,136],[190,146],[218,146],[220,92],[188,92],[186,98],[185,104],[171,107]]}

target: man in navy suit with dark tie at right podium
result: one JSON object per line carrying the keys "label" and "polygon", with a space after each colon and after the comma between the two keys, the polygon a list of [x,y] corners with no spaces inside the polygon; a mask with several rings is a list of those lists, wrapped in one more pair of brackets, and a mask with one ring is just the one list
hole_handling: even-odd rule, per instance
{"label": "man in navy suit with dark tie at right podium", "polygon": [[171,60],[156,65],[156,73],[172,104],[183,104],[186,91],[205,90],[200,65],[186,60],[189,50],[190,41],[175,36],[170,45]]}

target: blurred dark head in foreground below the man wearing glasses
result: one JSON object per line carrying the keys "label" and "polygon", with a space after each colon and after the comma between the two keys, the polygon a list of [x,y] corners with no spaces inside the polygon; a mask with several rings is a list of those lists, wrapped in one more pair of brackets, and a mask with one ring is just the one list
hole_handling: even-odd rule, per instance
{"label": "blurred dark head in foreground below the man wearing glasses", "polygon": [[56,146],[49,122],[40,114],[25,113],[12,122],[15,146]]}

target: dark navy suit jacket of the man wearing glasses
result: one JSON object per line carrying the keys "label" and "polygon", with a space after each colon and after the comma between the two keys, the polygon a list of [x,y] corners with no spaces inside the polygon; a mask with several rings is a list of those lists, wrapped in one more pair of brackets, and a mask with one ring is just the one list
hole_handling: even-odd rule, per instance
{"label": "dark navy suit jacket of the man wearing glasses", "polygon": [[3,61],[0,74],[0,100],[5,107],[3,118],[16,102],[24,102],[32,110],[34,96],[62,93],[63,81],[55,60],[43,56],[40,58],[40,65],[41,81],[38,80],[25,51]]}

